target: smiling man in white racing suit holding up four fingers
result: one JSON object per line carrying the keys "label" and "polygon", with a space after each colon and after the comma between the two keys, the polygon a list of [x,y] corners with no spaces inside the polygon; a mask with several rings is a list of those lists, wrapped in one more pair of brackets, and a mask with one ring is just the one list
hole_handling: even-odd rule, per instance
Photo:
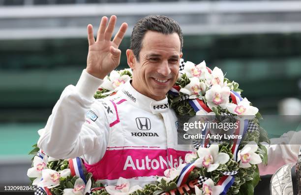
{"label": "smiling man in white racing suit holding up four fingers", "polygon": [[180,166],[192,150],[177,144],[177,117],[166,97],[178,77],[182,32],[165,16],[138,21],[126,50],[132,80],[116,95],[94,99],[104,77],[120,63],[118,47],[127,24],[111,41],[116,20],[112,16],[107,24],[103,17],[96,40],[88,25],[87,68],[76,86],[62,92],[38,146],[58,159],[81,156],[87,171],[105,184],[123,177],[144,186]]}

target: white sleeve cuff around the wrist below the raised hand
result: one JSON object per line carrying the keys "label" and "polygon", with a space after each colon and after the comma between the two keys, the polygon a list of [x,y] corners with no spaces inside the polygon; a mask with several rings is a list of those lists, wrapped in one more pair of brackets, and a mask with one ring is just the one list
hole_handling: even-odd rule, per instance
{"label": "white sleeve cuff around the wrist below the raised hand", "polygon": [[86,71],[86,69],[84,69],[80,79],[76,84],[76,88],[83,97],[90,99],[93,97],[93,95],[102,83],[102,79],[91,75]]}

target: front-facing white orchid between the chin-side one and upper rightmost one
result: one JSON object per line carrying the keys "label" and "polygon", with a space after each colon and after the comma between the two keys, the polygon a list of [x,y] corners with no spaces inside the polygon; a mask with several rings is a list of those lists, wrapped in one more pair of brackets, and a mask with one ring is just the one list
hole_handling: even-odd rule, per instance
{"label": "front-facing white orchid between the chin-side one and upper rightmost one", "polygon": [[213,85],[211,89],[206,92],[206,100],[208,106],[212,107],[220,106],[221,108],[226,108],[229,103],[230,88],[221,87],[220,85]]}

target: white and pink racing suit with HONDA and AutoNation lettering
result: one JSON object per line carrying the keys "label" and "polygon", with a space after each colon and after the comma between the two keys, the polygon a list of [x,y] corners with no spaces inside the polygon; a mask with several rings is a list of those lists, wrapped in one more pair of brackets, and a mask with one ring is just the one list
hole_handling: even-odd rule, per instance
{"label": "white and pink racing suit with HONDA and AutoNation lettering", "polygon": [[[64,89],[38,141],[47,155],[81,156],[93,178],[108,185],[115,185],[121,176],[131,185],[144,186],[183,163],[193,149],[177,144],[177,117],[167,98],[155,101],[127,82],[116,95],[95,100],[93,94],[101,83],[84,70],[76,86]],[[294,144],[293,138],[295,145],[266,146],[268,166],[259,165],[261,175],[296,162],[300,133],[278,138]]]}

